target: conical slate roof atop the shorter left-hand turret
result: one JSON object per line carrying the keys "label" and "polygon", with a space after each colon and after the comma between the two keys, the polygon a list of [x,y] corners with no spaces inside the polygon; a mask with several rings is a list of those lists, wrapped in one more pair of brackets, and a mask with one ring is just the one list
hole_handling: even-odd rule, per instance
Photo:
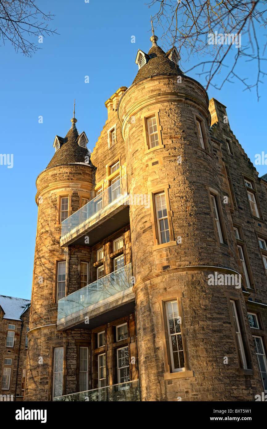
{"label": "conical slate roof atop the shorter left-hand turret", "polygon": [[78,137],[78,130],[75,124],[72,124],[71,129],[60,145],[60,149],[57,149],[46,168],[69,163],[85,163],[85,157],[90,157],[90,153],[87,148],[81,148],[81,146],[78,145]]}

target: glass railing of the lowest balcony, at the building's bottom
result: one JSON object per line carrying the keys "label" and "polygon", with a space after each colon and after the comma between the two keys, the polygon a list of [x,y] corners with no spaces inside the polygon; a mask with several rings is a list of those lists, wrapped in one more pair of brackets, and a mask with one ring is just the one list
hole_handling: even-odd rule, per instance
{"label": "glass railing of the lowest balcony, at the building's bottom", "polygon": [[53,401],[65,402],[138,402],[140,401],[139,380],[113,384],[99,389],[57,396]]}

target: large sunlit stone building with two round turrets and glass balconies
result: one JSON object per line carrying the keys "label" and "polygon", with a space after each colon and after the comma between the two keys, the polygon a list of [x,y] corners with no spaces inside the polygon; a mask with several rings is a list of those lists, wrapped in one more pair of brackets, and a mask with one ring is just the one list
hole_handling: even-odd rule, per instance
{"label": "large sunlit stone building with two round turrets and glass balconies", "polygon": [[150,40],[93,153],[74,115],[37,178],[27,401],[267,390],[267,176]]}

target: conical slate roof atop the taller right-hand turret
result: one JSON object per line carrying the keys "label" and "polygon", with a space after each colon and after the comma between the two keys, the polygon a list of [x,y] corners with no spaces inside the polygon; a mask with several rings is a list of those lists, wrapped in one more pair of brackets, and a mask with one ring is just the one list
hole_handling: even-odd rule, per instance
{"label": "conical slate roof atop the taller right-hand turret", "polygon": [[178,64],[166,57],[165,52],[159,46],[152,46],[148,52],[148,56],[149,60],[147,64],[138,70],[136,78],[132,82],[133,84],[142,79],[150,78],[150,76],[178,76],[183,74]]}

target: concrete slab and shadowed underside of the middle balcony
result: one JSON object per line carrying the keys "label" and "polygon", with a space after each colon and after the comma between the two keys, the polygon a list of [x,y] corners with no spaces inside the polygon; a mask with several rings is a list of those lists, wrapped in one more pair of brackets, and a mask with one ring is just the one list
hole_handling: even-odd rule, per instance
{"label": "concrete slab and shadowed underside of the middle balcony", "polygon": [[[66,329],[94,329],[105,323],[120,319],[135,311],[135,295],[132,287],[123,290],[107,299],[90,305],[70,316],[57,321],[57,330]],[[89,323],[85,323],[85,318],[89,318]]]}

